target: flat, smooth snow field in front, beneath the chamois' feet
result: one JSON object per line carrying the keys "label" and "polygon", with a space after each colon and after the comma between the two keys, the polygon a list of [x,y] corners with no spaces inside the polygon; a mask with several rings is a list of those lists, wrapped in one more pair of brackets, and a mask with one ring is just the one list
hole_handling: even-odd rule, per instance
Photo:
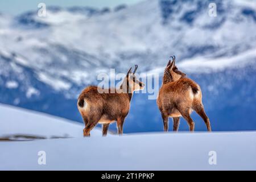
{"label": "flat, smooth snow field in front, beneath the chamois' feet", "polygon": [[[0,142],[0,148],[1,170],[256,169],[255,132],[148,133]],[[38,164],[39,151],[46,152],[46,165]],[[216,165],[209,164],[213,159]]]}

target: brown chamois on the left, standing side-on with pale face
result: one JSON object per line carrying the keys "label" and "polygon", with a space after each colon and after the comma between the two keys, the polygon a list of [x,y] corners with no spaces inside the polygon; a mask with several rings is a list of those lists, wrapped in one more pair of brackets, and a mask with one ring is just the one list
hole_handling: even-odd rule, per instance
{"label": "brown chamois on the left, standing side-on with pale face", "polygon": [[[119,89],[102,89],[97,86],[88,86],[80,94],[77,107],[84,120],[84,137],[90,136],[90,130],[97,123],[102,124],[102,136],[108,133],[109,124],[117,121],[118,134],[123,133],[123,122],[129,113],[131,97],[135,90],[142,90],[144,83],[137,80],[135,72],[138,65],[135,65],[134,72],[129,69]],[[98,92],[101,89],[101,93]],[[113,88],[112,88],[113,89]],[[102,93],[104,91],[104,93]]]}

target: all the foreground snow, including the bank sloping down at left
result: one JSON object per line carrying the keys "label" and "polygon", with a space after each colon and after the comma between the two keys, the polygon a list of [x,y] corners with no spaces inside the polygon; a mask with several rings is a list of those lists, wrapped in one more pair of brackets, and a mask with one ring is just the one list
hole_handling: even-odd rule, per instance
{"label": "all the foreground snow, including the bank sloping down at left", "polygon": [[[101,137],[94,128],[90,138],[83,138],[80,123],[2,104],[0,126],[0,138],[15,134],[47,138],[0,142],[0,170],[256,169],[256,131]],[[46,152],[46,165],[38,164],[40,151]],[[216,164],[209,164],[212,152]]]}

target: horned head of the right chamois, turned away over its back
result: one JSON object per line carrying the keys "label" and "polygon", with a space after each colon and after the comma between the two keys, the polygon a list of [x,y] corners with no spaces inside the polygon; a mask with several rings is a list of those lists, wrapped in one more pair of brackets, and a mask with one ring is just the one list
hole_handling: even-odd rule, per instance
{"label": "horned head of the right chamois, turned away over its back", "polygon": [[175,65],[175,56],[171,56],[172,61],[169,60],[166,69],[164,69],[164,76],[163,76],[163,84],[167,84],[171,81],[177,81],[181,77],[185,77],[186,74],[179,71],[179,69]]}

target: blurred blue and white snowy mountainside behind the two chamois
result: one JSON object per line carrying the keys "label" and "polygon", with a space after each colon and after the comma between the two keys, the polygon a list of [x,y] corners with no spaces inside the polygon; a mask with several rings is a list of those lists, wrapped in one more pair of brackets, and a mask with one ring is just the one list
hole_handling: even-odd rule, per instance
{"label": "blurred blue and white snowy mountainside behind the two chamois", "polygon": [[[210,2],[216,17],[208,15]],[[97,84],[99,73],[138,64],[138,72],[162,74],[176,55],[179,69],[201,85],[213,130],[255,130],[255,29],[256,3],[238,0],[148,0],[114,10],[49,7],[46,17],[0,15],[0,101],[81,121],[77,95]],[[135,94],[124,130],[162,130],[147,94]],[[205,130],[203,121],[196,130]]]}

